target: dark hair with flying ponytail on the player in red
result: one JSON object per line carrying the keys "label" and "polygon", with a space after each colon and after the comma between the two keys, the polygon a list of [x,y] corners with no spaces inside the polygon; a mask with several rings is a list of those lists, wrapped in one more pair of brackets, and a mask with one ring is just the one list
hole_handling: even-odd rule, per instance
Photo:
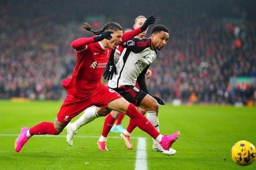
{"label": "dark hair with flying ponytail on the player in red", "polygon": [[92,32],[94,35],[99,35],[102,32],[106,31],[106,30],[112,30],[114,32],[116,32],[117,30],[123,30],[122,26],[119,25],[118,23],[115,22],[110,22],[110,23],[106,23],[101,30],[97,30],[94,31],[92,30],[92,28],[90,27],[90,25],[88,23],[84,23],[84,25],[81,26],[80,28],[81,30],[87,30]]}

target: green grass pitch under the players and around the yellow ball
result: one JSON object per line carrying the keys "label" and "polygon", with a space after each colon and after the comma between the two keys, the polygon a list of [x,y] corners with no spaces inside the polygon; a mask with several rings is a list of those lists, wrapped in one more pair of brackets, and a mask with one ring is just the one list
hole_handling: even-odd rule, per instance
{"label": "green grass pitch under the players and around the yellow ball", "polygon": [[[16,153],[14,142],[21,127],[32,127],[42,121],[54,121],[62,102],[10,102],[0,100],[0,169],[1,170],[134,170],[137,138],[146,138],[148,170],[255,170],[256,162],[242,167],[231,160],[230,150],[239,140],[256,145],[256,108],[233,106],[160,106],[160,132],[181,131],[173,144],[177,153],[166,156],[152,151],[152,139],[136,128],[131,139],[133,150],[127,150],[118,133],[110,133],[109,151],[99,151],[96,142],[104,117],[82,127],[70,147],[65,132],[58,136],[33,136]],[[77,119],[77,116],[75,119]],[[74,119],[74,120],[75,120]],[[73,122],[72,120],[71,122]],[[129,119],[125,116],[123,125]]]}

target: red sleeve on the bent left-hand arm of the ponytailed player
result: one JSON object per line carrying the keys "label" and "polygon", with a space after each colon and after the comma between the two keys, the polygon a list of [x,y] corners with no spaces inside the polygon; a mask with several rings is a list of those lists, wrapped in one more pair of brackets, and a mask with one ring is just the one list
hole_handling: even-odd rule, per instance
{"label": "red sleeve on the bent left-hand arm of the ponytailed player", "polygon": [[75,51],[81,52],[87,49],[88,44],[94,43],[94,42],[95,41],[93,37],[78,38],[71,43],[71,46],[75,49]]}

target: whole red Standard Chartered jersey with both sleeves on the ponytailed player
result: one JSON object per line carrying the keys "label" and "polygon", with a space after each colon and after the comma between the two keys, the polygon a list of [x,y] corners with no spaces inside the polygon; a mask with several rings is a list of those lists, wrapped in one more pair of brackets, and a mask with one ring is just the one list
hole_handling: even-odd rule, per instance
{"label": "whole red Standard Chartered jersey with both sleeves on the ponytailed player", "polygon": [[[122,42],[127,42],[139,33],[141,28],[124,33]],[[96,93],[100,87],[112,49],[105,49],[101,42],[94,42],[93,37],[79,38],[72,42],[72,47],[77,51],[77,62],[71,79],[65,79],[62,85],[73,96],[84,98]]]}

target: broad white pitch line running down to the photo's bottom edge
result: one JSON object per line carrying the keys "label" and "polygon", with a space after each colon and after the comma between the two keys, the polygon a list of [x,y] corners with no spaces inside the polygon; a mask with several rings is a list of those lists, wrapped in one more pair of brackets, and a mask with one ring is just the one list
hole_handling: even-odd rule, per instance
{"label": "broad white pitch line running down to the photo's bottom edge", "polygon": [[138,138],[135,170],[147,170],[146,138]]}

